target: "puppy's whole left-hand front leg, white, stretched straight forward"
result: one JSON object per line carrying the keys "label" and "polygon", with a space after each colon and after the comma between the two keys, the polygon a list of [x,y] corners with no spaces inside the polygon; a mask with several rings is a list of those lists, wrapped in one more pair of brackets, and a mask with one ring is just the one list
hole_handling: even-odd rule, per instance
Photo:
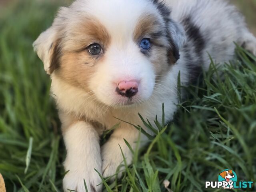
{"label": "puppy's whole left-hand front leg, white, stretched straight forward", "polygon": [[84,180],[89,192],[99,192],[102,181],[99,136],[94,127],[87,122],[76,122],[66,128],[63,133],[67,156],[64,168],[69,172],[63,180],[64,191],[76,190],[84,192]]}

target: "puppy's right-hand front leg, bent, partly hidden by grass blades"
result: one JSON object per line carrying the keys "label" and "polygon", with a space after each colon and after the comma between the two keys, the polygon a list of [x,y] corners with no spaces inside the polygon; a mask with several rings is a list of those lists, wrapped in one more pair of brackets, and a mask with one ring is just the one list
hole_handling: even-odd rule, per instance
{"label": "puppy's right-hand front leg, bent, partly hidden by grass blades", "polygon": [[[120,127],[113,132],[108,142],[106,142],[106,144],[104,144],[104,146],[101,148],[102,174],[105,178],[114,175],[118,166],[120,164],[124,164],[124,158],[122,156],[120,147],[122,148],[127,164],[131,164],[132,152],[124,142],[124,139],[128,141],[132,149],[135,149],[138,136],[139,131],[132,126]],[[140,140],[146,140],[143,134],[141,134]],[[124,170],[124,166],[120,167],[120,171],[121,170]],[[118,176],[120,177],[121,174],[122,173],[120,172]]]}

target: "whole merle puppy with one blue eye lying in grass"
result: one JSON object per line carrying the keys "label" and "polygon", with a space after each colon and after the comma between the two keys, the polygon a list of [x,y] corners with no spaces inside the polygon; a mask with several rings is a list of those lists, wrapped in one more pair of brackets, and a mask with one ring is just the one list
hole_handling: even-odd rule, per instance
{"label": "whole merle puppy with one blue eye lying in grass", "polygon": [[[124,138],[135,148],[139,135],[116,118],[141,124],[139,112],[153,121],[164,103],[169,122],[179,72],[188,85],[201,66],[208,69],[208,53],[216,62],[232,60],[233,42],[256,53],[256,38],[225,0],[76,0],[60,8],[33,46],[52,79],[62,122],[64,190],[84,191],[85,179],[89,191],[101,191],[94,169],[115,174],[123,161],[119,145],[130,164]],[[118,123],[100,148],[102,130]]]}

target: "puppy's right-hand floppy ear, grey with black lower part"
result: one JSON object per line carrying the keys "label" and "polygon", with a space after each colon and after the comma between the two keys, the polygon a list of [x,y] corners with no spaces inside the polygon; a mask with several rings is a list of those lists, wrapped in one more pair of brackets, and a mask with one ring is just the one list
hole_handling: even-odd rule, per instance
{"label": "puppy's right-hand floppy ear, grey with black lower part", "polygon": [[186,42],[185,30],[181,24],[171,20],[169,24],[169,32],[171,46],[169,56],[171,57],[171,61],[176,63],[177,60],[180,59],[180,49]]}

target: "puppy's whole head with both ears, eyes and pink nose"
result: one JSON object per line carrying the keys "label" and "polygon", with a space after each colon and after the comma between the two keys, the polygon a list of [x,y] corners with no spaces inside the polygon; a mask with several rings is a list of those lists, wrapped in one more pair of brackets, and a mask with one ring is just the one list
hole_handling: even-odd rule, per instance
{"label": "puppy's whole head with both ears, eyes and pink nose", "polygon": [[77,0],[33,46],[48,74],[119,107],[150,98],[184,41],[158,0]]}

